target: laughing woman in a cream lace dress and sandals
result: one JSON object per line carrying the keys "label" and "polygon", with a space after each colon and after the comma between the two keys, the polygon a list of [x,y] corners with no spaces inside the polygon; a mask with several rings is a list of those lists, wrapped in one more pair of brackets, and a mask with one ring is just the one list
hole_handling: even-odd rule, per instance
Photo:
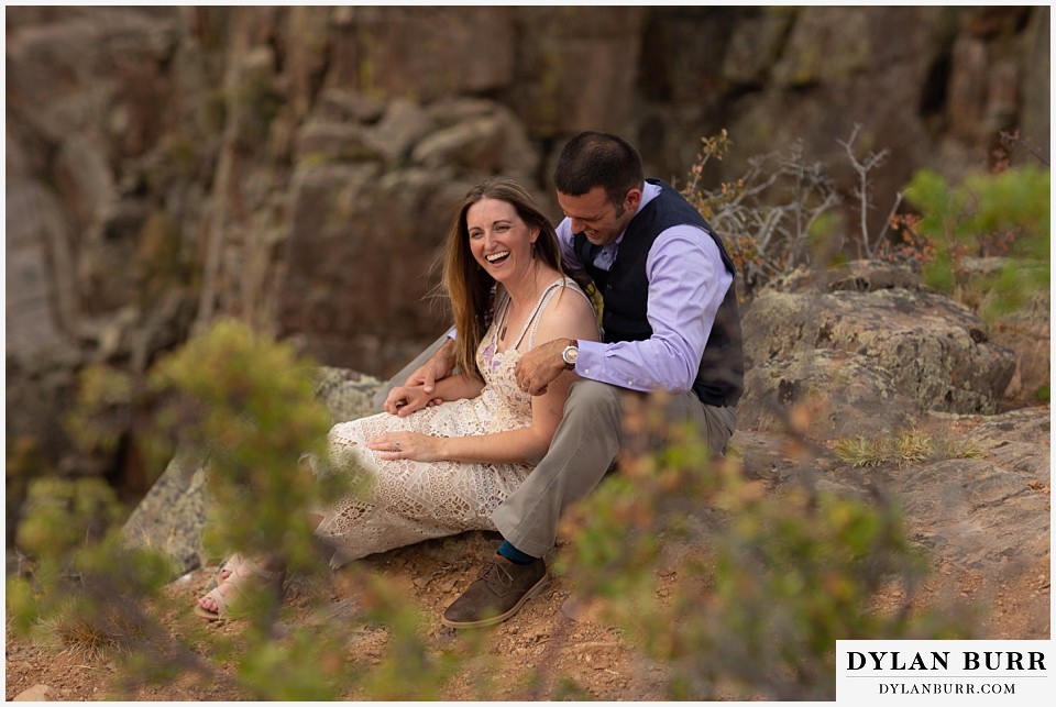
{"label": "laughing woman in a cream lace dress and sandals", "polygon": [[[334,549],[333,567],[429,538],[494,530],[492,511],[546,454],[575,377],[566,372],[532,397],[517,386],[517,360],[536,341],[598,339],[590,301],[561,268],[553,227],[508,179],[486,179],[466,195],[448,235],[443,287],[461,373],[428,396],[420,386],[395,396],[437,404],[406,417],[389,406],[330,431],[330,468],[362,466],[373,477],[369,499],[348,496],[314,519]],[[222,618],[232,599],[275,582],[280,570],[235,555],[195,610]]]}

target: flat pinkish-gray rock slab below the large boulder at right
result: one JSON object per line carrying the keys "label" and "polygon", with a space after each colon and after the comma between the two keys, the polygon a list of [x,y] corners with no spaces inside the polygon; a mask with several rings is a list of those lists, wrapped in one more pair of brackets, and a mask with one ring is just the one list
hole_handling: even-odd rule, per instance
{"label": "flat pinkish-gray rock slab below the large boulder at right", "polygon": [[[856,467],[826,445],[741,429],[730,445],[746,474],[776,493],[806,484],[866,502],[892,501],[927,561],[916,605],[948,610],[970,595],[976,638],[1047,639],[1050,409],[928,413],[917,424],[934,439],[955,440],[963,457]],[[1008,626],[1005,611],[1020,622]]]}

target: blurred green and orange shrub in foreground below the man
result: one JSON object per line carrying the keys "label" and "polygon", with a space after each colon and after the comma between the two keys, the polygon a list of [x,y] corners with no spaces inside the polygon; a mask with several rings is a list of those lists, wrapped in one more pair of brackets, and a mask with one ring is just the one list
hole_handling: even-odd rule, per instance
{"label": "blurred green and orange shrub in foreground below the man", "polygon": [[[710,461],[692,429],[650,409],[629,417],[660,451],[622,457],[575,510],[562,571],[668,667],[671,698],[833,699],[838,639],[966,633],[909,611],[925,564],[890,502],[805,479],[767,489],[734,460]],[[904,603],[883,612],[893,587]]]}

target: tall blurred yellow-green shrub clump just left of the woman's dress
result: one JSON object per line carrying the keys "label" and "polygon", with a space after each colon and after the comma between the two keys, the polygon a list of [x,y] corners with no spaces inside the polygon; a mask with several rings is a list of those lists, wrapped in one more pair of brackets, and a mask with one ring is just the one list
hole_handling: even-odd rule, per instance
{"label": "tall blurred yellow-green shrub clump just left of the woman's dress", "polygon": [[317,563],[308,512],[343,489],[341,476],[316,479],[298,467],[301,452],[324,455],[330,429],[315,369],[289,345],[220,321],[151,371],[150,388],[163,401],[157,439],[209,457],[208,539],[218,555],[278,554],[293,570]]}

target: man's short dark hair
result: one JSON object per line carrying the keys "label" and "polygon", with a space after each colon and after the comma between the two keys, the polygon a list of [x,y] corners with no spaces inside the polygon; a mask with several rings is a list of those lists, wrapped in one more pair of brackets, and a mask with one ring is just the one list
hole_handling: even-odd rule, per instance
{"label": "man's short dark hair", "polygon": [[612,133],[582,132],[572,137],[558,157],[553,186],[561,194],[580,197],[602,187],[608,200],[620,205],[645,180],[641,156],[634,145]]}

